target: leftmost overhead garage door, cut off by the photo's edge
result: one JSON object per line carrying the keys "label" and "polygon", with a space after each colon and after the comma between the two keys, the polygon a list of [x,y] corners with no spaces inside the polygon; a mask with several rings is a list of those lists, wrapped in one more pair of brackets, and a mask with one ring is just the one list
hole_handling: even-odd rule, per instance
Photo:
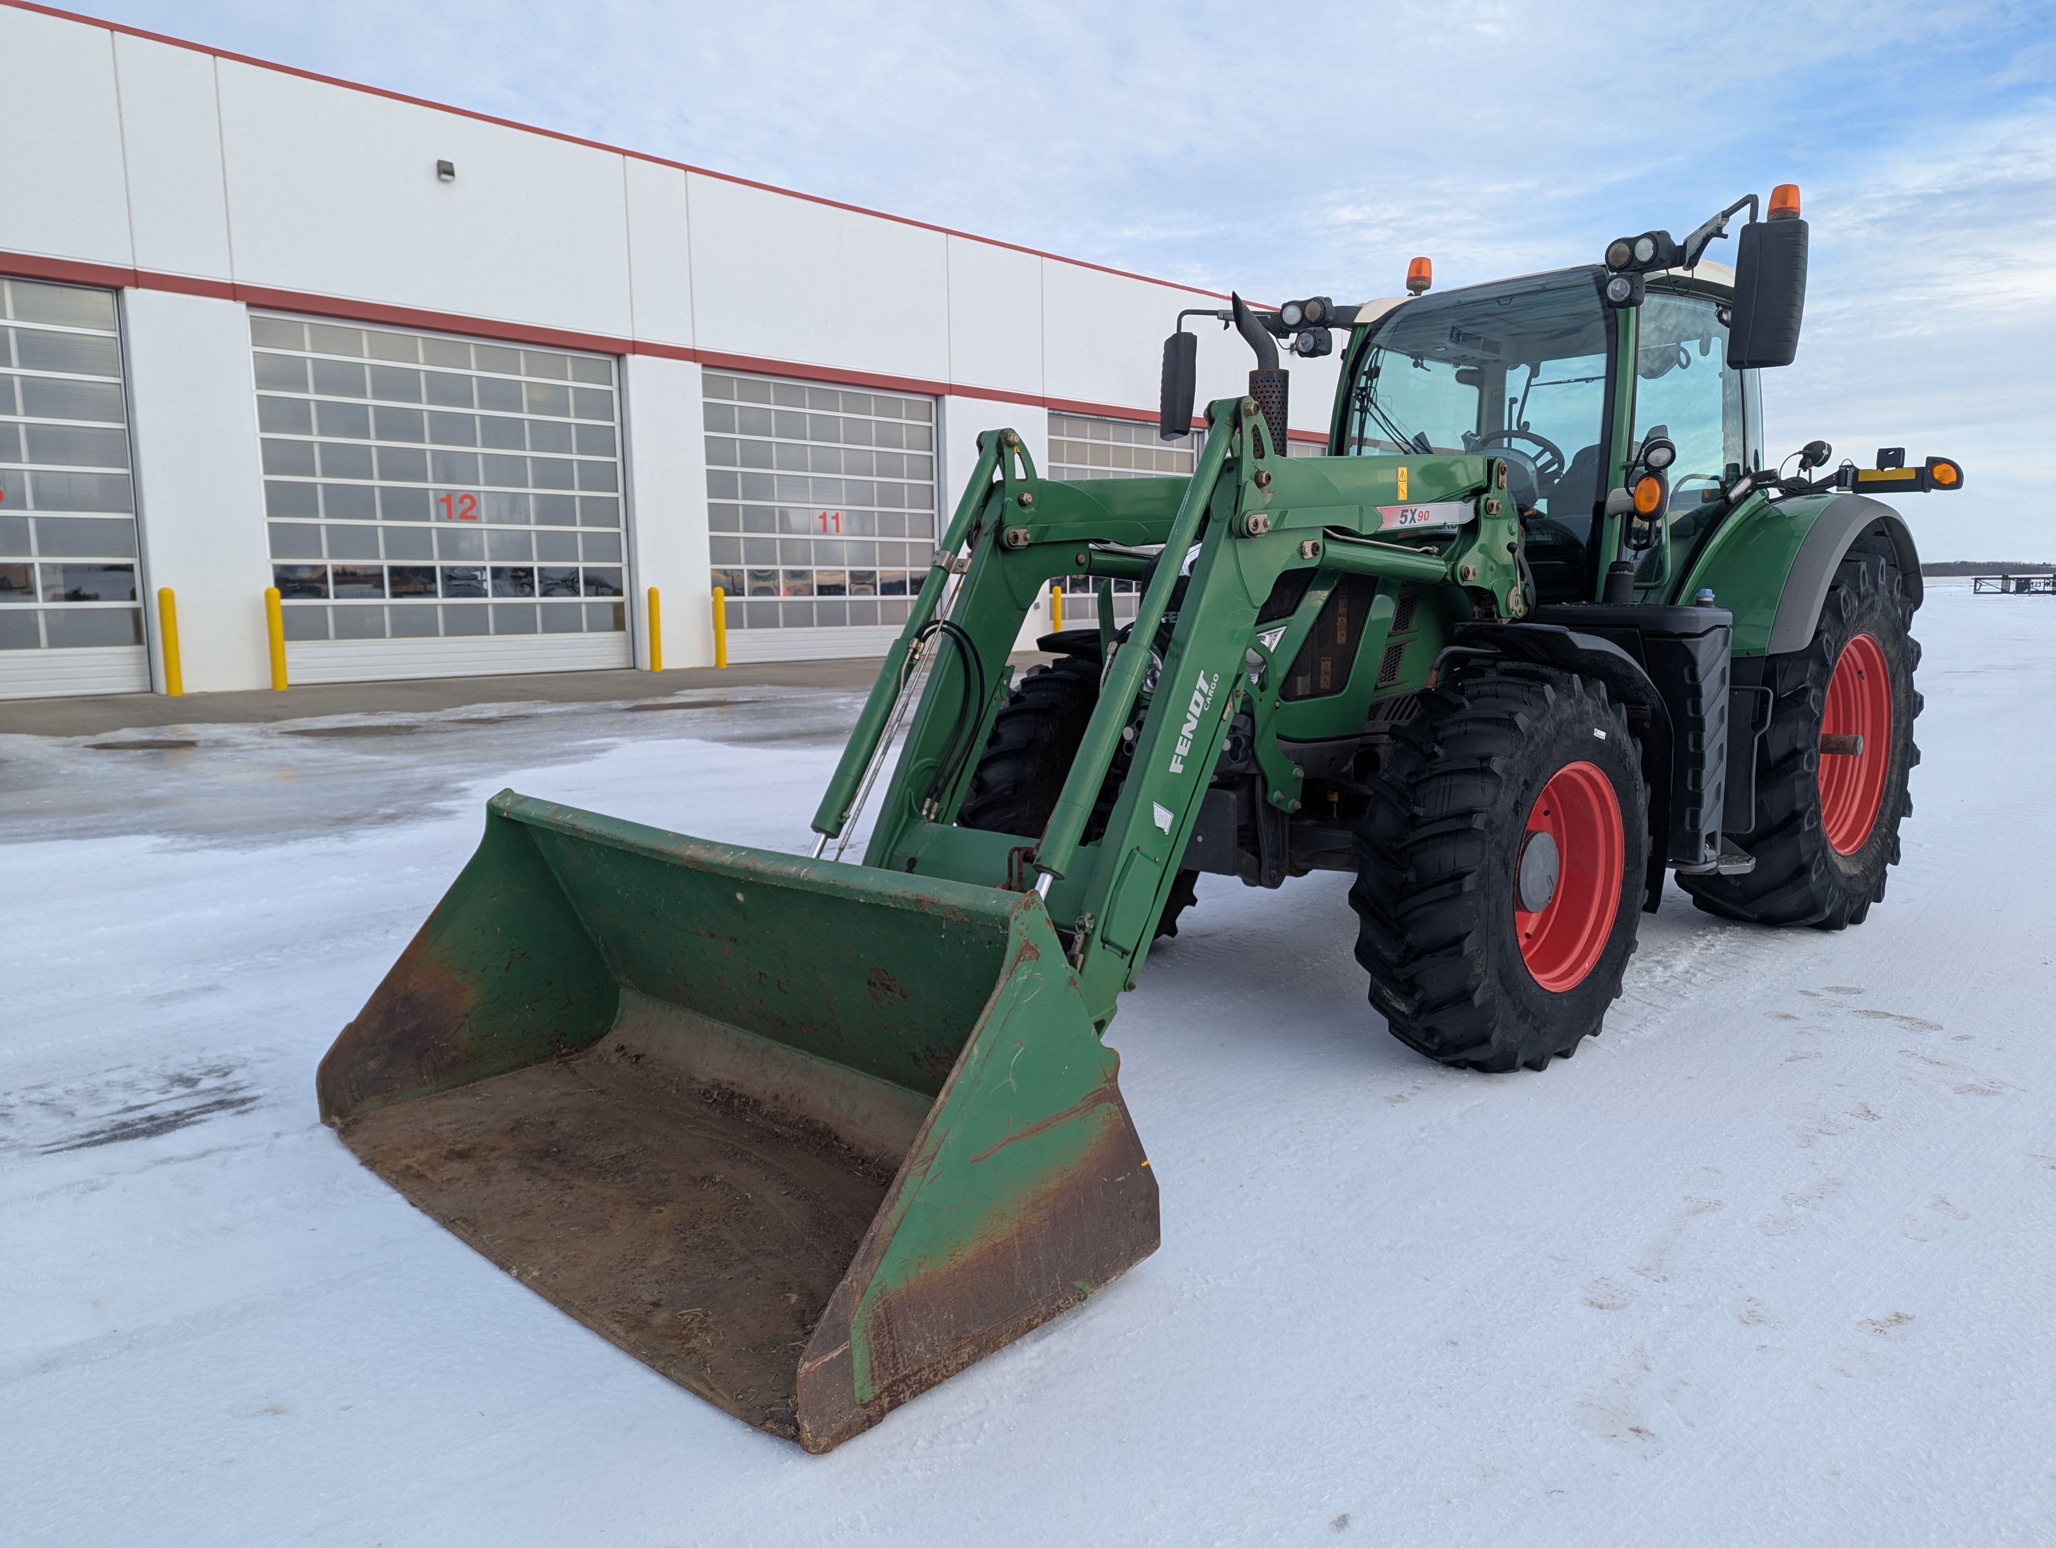
{"label": "leftmost overhead garage door, cut off by the photo's edge", "polygon": [[144,693],[115,294],[0,280],[0,699]]}

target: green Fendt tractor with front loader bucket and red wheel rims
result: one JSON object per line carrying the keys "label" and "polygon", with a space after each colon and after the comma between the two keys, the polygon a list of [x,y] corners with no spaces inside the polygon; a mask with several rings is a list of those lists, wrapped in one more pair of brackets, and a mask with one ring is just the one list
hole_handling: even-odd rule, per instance
{"label": "green Fendt tractor with front loader bucket and red wheel rims", "polygon": [[[1351,874],[1371,1005],[1480,1071],[1600,1030],[1665,872],[1727,919],[1859,923],[1920,711],[1920,565],[1875,495],[1963,473],[1768,465],[1807,226],[1791,187],[1756,214],[1439,296],[1417,261],[1400,302],[1238,298],[1256,366],[1190,477],[1047,481],[983,434],[812,857],[495,796],[323,1059],[323,1118],[621,1349],[824,1451],[1155,1250],[1104,1034],[1199,874]],[[1326,454],[1291,456],[1281,347],[1336,333]],[[1028,609],[1077,578],[1098,627],[1016,683]]]}

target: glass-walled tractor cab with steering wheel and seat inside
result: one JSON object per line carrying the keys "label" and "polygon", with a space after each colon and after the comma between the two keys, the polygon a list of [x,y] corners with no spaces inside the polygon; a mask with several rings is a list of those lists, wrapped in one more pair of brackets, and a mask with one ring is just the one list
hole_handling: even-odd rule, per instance
{"label": "glass-walled tractor cab with steering wheel and seat inside", "polygon": [[[1468,286],[1390,306],[1345,360],[1330,450],[1482,452],[1507,460],[1540,602],[1598,600],[1604,506],[1647,440],[1667,438],[1663,532],[1637,569],[1657,600],[1719,493],[1760,467],[1756,372],[1727,364],[1729,269],[1649,275],[1639,306],[1608,302],[1606,267]],[[1369,308],[1365,308],[1369,310]]]}

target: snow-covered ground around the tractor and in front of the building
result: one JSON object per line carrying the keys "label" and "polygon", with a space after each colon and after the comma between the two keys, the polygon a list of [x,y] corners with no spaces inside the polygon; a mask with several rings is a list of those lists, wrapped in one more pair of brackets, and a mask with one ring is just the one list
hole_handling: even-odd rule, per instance
{"label": "snow-covered ground around the tractor and in front of the building", "polygon": [[0,1540],[2056,1542],[2056,604],[1918,623],[1889,898],[1672,890],[1542,1075],[1388,1038],[1345,878],[1207,878],[1108,1038],[1162,1252],[827,1458],[415,1213],[313,1075],[487,794],[800,849],[851,697],[0,736]]}

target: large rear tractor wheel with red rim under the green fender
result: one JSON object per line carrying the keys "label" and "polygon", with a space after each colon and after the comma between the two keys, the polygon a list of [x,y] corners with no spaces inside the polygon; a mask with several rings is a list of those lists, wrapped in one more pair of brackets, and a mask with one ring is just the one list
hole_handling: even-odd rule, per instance
{"label": "large rear tractor wheel with red rim under the green fender", "polygon": [[[1920,763],[1920,646],[1889,545],[1857,543],[1828,586],[1813,641],[1772,656],[1764,674],[1774,697],[1756,752],[1756,826],[1733,835],[1756,870],[1678,878],[1721,919],[1861,925],[1900,859],[1900,822],[1914,810],[1906,783]],[[1824,754],[1822,732],[1861,732],[1865,748]]]}

